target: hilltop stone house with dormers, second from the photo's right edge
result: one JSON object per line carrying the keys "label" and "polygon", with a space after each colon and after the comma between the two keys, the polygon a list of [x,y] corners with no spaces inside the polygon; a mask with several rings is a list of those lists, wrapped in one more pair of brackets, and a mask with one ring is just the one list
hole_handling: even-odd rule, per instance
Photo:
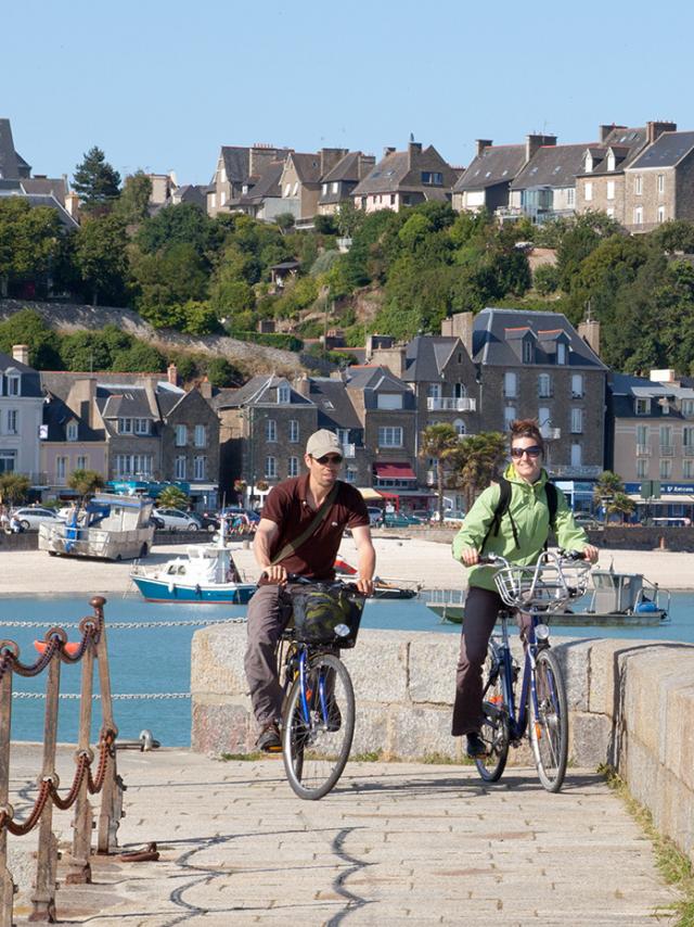
{"label": "hilltop stone house with dormers, second from the photo's right edge", "polygon": [[625,172],[663,132],[676,130],[674,123],[664,122],[640,128],[600,126],[600,141],[586,149],[576,177],[576,212],[604,212],[620,225],[631,225],[626,213]]}

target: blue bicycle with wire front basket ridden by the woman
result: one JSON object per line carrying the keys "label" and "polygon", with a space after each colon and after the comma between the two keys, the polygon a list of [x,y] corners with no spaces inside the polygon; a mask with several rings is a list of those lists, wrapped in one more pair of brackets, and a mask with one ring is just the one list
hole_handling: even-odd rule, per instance
{"label": "blue bicycle with wire front basket ridden by the woman", "polygon": [[[590,563],[577,551],[543,551],[535,566],[520,567],[490,555],[480,563],[499,566],[497,589],[507,609],[500,612],[501,635],[489,642],[483,688],[485,722],[480,732],[488,753],[475,765],[485,782],[501,778],[509,747],[517,747],[528,732],[535,765],[548,791],[562,788],[568,759],[568,708],[558,660],[550,648],[550,628],[542,611],[556,610],[579,598],[588,586]],[[520,668],[511,656],[509,618],[522,620],[525,665],[516,707]],[[523,622],[523,615],[529,618]]]}

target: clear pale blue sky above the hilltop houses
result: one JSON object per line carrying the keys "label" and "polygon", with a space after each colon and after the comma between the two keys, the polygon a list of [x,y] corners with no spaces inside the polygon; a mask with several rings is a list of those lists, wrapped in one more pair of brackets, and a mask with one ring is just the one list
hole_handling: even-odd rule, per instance
{"label": "clear pale blue sky above the hilltop houses", "polygon": [[206,183],[222,144],[381,155],[410,132],[466,165],[476,138],[694,129],[693,26],[684,0],[23,0],[0,20],[0,117],[50,176],[98,144],[121,175]]}

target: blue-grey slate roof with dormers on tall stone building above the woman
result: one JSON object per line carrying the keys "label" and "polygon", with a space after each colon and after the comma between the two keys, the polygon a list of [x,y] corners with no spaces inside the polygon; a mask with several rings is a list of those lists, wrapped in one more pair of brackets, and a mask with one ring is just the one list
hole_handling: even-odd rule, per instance
{"label": "blue-grey slate roof with dormers on tall stone building above the woman", "polygon": [[526,309],[486,308],[475,316],[473,326],[473,360],[494,367],[523,367],[523,361],[511,347],[514,336],[528,332],[537,339],[534,367],[553,365],[556,338],[549,333],[561,329],[568,340],[567,368],[581,367],[606,370],[600,357],[578,334],[562,313],[528,312]]}

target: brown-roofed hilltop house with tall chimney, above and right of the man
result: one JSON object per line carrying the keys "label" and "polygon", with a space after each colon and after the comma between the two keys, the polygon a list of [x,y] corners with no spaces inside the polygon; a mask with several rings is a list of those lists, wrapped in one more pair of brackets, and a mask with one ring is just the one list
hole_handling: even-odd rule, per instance
{"label": "brown-roofed hilltop house with tall chimney, above and right of the man", "polygon": [[450,202],[459,173],[434,145],[423,149],[421,142],[411,141],[407,151],[386,148],[383,158],[352,190],[355,206],[367,213],[397,213],[428,200]]}

